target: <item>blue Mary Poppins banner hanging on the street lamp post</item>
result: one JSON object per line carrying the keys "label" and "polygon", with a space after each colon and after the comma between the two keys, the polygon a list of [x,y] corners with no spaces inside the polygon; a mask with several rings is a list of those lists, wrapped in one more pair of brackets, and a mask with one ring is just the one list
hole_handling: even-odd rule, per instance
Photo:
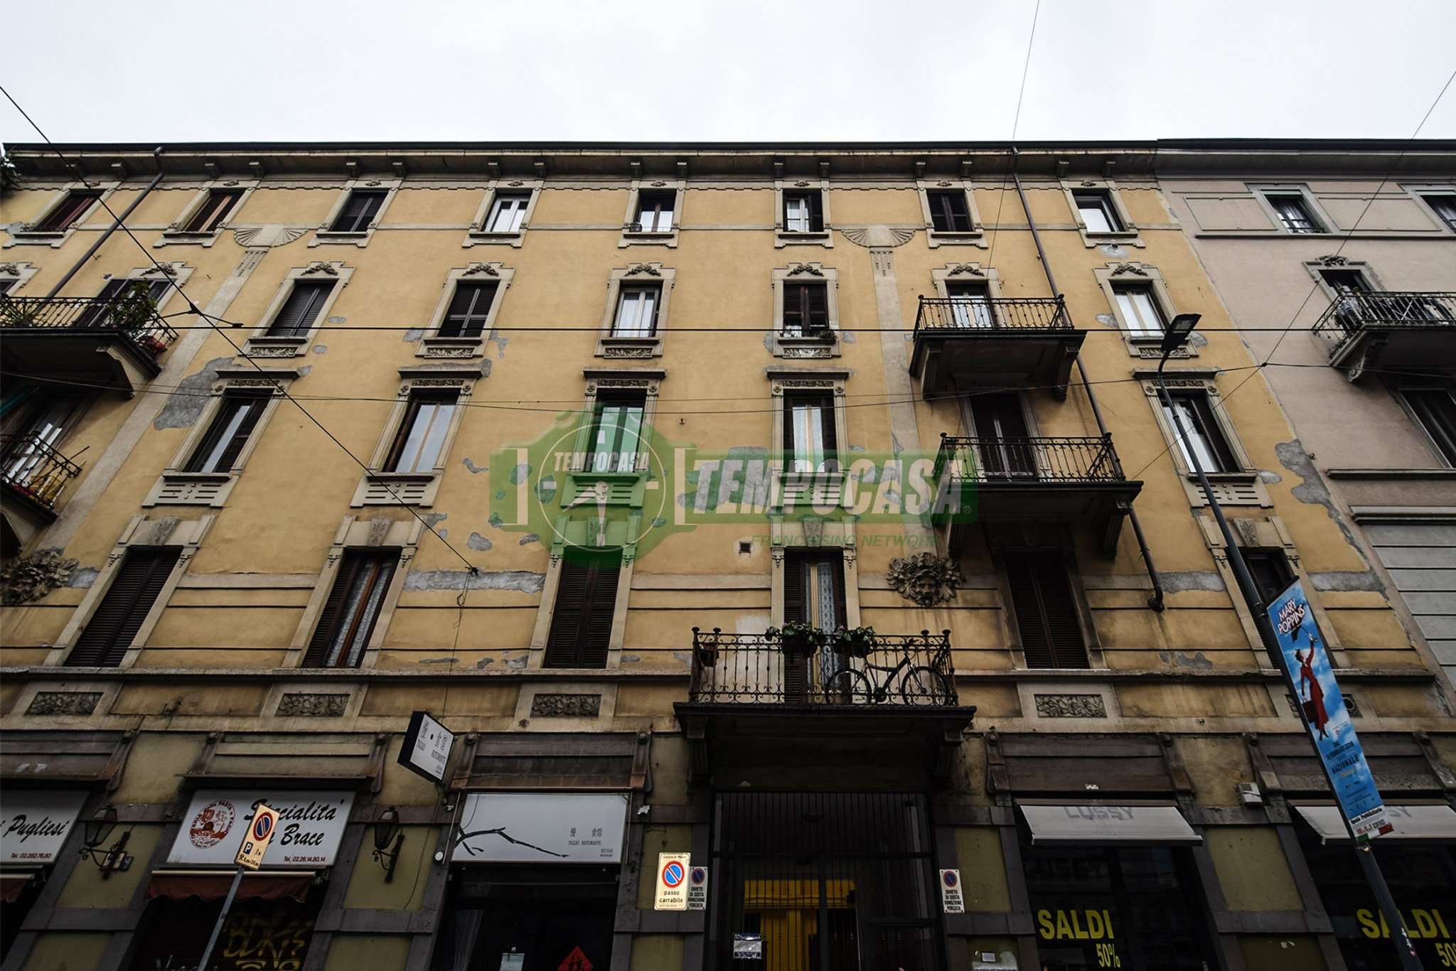
{"label": "blue Mary Poppins banner hanging on the street lamp post", "polygon": [[1335,786],[1340,811],[1350,820],[1350,828],[1360,841],[1389,833],[1392,827],[1380,792],[1374,788],[1356,726],[1350,724],[1350,709],[1335,684],[1324,638],[1300,581],[1274,598],[1268,614],[1284,667],[1294,681],[1294,697],[1305,709],[1309,734]]}

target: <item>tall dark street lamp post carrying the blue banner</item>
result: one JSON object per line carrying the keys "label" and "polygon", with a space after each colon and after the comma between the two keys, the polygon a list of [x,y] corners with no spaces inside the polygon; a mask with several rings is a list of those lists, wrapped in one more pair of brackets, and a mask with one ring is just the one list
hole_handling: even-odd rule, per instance
{"label": "tall dark street lamp post carrying the blue banner", "polygon": [[[1192,329],[1198,326],[1200,319],[1201,314],[1197,313],[1179,313],[1168,325],[1168,329],[1163,332],[1163,342],[1158,348],[1162,352],[1162,360],[1158,362],[1158,399],[1162,402],[1163,411],[1172,421],[1176,441],[1187,441],[1187,432],[1184,431],[1182,416],[1178,413],[1178,409],[1174,408],[1172,396],[1168,393],[1168,381],[1163,379],[1163,367],[1168,364],[1168,358],[1172,352],[1188,342],[1188,335],[1191,335]],[[1219,498],[1214,495],[1213,486],[1208,483],[1208,473],[1203,470],[1203,460],[1198,459],[1198,450],[1190,445],[1184,450],[1184,454],[1188,457],[1188,464],[1192,466],[1194,475],[1198,476],[1198,486],[1203,489],[1208,508],[1213,511],[1213,518],[1219,524],[1219,533],[1223,536],[1223,546],[1229,556],[1229,565],[1233,568],[1233,575],[1239,581],[1239,592],[1243,594],[1243,603],[1248,604],[1249,613],[1254,614],[1254,626],[1259,632],[1259,641],[1264,642],[1264,649],[1268,652],[1270,658],[1278,664],[1278,670],[1284,675],[1284,687],[1289,689],[1290,697],[1294,699],[1294,712],[1299,715],[1299,721],[1305,726],[1305,737],[1310,740],[1310,744],[1313,744],[1313,735],[1309,731],[1309,718],[1305,715],[1305,706],[1299,703],[1299,689],[1294,686],[1294,677],[1283,662],[1283,654],[1280,651],[1278,641],[1274,636],[1274,627],[1264,610],[1265,604],[1259,597],[1258,587],[1254,585],[1254,576],[1249,574],[1248,563],[1243,562],[1243,553],[1239,550],[1239,543],[1233,539],[1233,530],[1229,528],[1229,521],[1223,517],[1223,507],[1219,505]],[[1334,795],[1335,780],[1329,776],[1329,767],[1325,766],[1325,760],[1319,757],[1318,751],[1315,753],[1315,757],[1325,773],[1325,782],[1329,785],[1329,792]],[[1380,872],[1380,865],[1376,862],[1374,853],[1370,850],[1370,844],[1361,843],[1356,839],[1354,827],[1350,825],[1350,820],[1345,818],[1342,809],[1340,812],[1340,818],[1345,824],[1345,833],[1350,836],[1350,844],[1356,850],[1356,859],[1360,860],[1360,869],[1364,872],[1366,882],[1370,884],[1376,903],[1380,905],[1380,916],[1390,927],[1390,938],[1396,942],[1395,952],[1401,958],[1401,968],[1404,968],[1404,971],[1421,971],[1421,961],[1415,955],[1414,945],[1411,945],[1411,935],[1406,932],[1405,923],[1401,920],[1401,911],[1395,905],[1395,898],[1390,897],[1390,888],[1385,882],[1385,875]]]}

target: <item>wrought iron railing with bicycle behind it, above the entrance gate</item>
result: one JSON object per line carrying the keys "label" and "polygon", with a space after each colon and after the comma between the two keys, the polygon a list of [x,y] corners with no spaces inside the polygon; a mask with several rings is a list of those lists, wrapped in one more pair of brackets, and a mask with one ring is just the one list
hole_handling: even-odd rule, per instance
{"label": "wrought iron railing with bicycle behind it, above the entrance gate", "polygon": [[954,706],[951,632],[875,635],[805,652],[788,636],[693,627],[689,700],[716,705]]}

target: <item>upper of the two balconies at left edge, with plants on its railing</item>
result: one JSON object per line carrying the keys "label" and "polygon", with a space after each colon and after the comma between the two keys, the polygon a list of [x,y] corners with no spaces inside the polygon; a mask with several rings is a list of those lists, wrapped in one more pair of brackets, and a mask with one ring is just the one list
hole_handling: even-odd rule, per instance
{"label": "upper of the two balconies at left edge, with plants on its railing", "polygon": [[162,373],[159,358],[176,336],[144,293],[0,296],[0,367],[9,374],[132,395]]}

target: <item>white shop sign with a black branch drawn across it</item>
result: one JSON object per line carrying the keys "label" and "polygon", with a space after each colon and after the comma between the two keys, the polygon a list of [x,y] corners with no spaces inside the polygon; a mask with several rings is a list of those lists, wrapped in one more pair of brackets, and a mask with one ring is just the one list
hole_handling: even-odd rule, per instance
{"label": "white shop sign with a black branch drawn across it", "polygon": [[456,863],[620,863],[625,792],[472,792]]}

